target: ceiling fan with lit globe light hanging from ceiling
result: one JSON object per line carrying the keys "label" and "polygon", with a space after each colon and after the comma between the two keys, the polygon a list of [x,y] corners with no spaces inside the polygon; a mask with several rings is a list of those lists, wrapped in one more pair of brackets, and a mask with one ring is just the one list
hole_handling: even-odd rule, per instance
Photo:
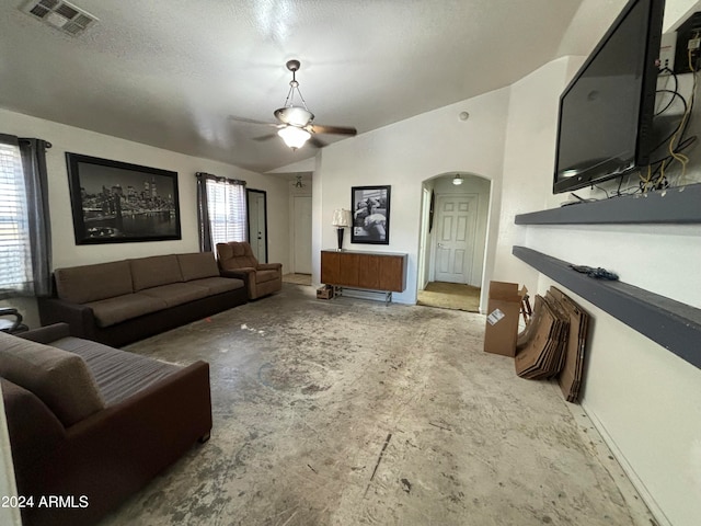
{"label": "ceiling fan with lit globe light hanging from ceiling", "polygon": [[[289,91],[287,92],[287,99],[285,99],[285,105],[283,107],[278,107],[273,112],[275,118],[279,121],[279,123],[266,123],[264,121],[255,121],[253,118],[245,117],[237,117],[234,115],[230,115],[229,118],[232,121],[239,121],[241,123],[249,124],[262,124],[264,126],[273,126],[278,128],[277,135],[283,138],[285,144],[290,147],[292,150],[297,148],[301,148],[309,140],[309,142],[318,148],[325,146],[323,141],[319,140],[312,135],[315,134],[333,134],[333,135],[356,135],[358,132],[352,127],[345,126],[324,126],[321,124],[314,124],[314,114],[309,111],[307,107],[307,103],[304,102],[304,98],[299,91],[299,82],[296,78],[296,72],[300,68],[299,60],[288,60],[287,69],[292,72],[292,80],[289,82]],[[295,103],[295,94],[299,96],[299,102],[301,105]],[[265,140],[271,137],[275,137],[275,135],[267,135],[257,138],[256,140]]]}

